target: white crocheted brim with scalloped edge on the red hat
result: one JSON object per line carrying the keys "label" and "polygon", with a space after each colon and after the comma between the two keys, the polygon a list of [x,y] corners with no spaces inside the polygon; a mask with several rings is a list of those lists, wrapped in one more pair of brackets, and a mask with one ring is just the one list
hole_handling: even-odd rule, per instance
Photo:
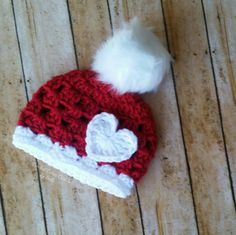
{"label": "white crocheted brim with scalloped edge on the red hat", "polygon": [[118,175],[113,166],[99,166],[91,158],[80,157],[75,148],[52,143],[46,135],[36,135],[28,127],[16,127],[13,144],[84,184],[121,198],[132,193],[134,181],[129,176]]}

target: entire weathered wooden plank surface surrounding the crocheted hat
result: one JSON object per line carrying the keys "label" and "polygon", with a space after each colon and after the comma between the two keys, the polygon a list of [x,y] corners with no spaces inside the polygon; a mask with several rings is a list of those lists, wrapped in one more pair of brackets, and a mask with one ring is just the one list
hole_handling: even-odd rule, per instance
{"label": "entire weathered wooden plank surface surrounding the crocheted hat", "polygon": [[[0,234],[236,234],[236,1],[0,0]],[[126,200],[15,149],[20,109],[51,76],[88,68],[139,16],[175,62],[145,95],[160,143]]]}

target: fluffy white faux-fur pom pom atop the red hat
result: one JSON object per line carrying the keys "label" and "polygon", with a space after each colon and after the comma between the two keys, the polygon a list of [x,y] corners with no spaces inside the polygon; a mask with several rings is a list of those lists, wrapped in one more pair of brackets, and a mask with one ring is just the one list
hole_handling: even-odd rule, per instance
{"label": "fluffy white faux-fur pom pom atop the red hat", "polygon": [[120,93],[156,90],[170,66],[158,38],[135,18],[97,51],[92,69]]}

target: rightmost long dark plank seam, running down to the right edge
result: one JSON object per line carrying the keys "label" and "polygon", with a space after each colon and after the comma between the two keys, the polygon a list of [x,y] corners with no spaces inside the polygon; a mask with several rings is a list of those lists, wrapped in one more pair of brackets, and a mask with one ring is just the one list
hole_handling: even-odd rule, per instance
{"label": "rightmost long dark plank seam, running down to the right edge", "polygon": [[[229,181],[230,181],[230,187],[231,187],[231,192],[232,192],[232,198],[233,198],[233,201],[234,201],[234,206],[235,206],[235,211],[236,211],[236,200],[235,200],[235,194],[234,194],[234,189],[233,189],[233,178],[232,178],[231,168],[230,168],[230,163],[229,163],[228,149],[227,149],[227,146],[226,146],[224,125],[223,125],[223,117],[222,117],[222,109],[221,109],[221,104],[220,104],[220,99],[219,99],[218,87],[217,87],[217,83],[216,83],[216,73],[215,73],[215,67],[214,67],[213,59],[212,59],[212,50],[211,50],[211,44],[210,44],[210,40],[209,40],[209,31],[208,31],[208,26],[207,26],[206,12],[205,12],[205,7],[204,7],[203,0],[201,0],[201,5],[202,5],[203,18],[204,18],[205,30],[206,30],[206,36],[207,36],[208,51],[209,51],[209,54],[210,54],[210,62],[211,62],[211,68],[212,68],[212,75],[213,75],[214,86],[215,86],[215,91],[216,91],[217,106],[218,106],[218,110],[219,110],[219,118],[220,118],[220,126],[221,126],[224,150],[225,150],[225,158],[226,158],[226,163],[227,163],[227,167],[228,167]],[[229,50],[229,48],[228,48],[228,50]],[[234,97],[234,93],[233,93],[233,97]]]}

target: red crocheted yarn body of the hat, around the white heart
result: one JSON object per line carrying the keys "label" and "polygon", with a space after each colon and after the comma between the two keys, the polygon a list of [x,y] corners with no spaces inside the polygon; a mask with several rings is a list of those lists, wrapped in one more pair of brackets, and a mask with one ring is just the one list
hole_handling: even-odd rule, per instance
{"label": "red crocheted yarn body of the hat, around the white heart", "polygon": [[119,120],[119,128],[128,128],[138,137],[138,150],[129,160],[111,165],[118,174],[129,175],[137,182],[146,173],[157,145],[151,111],[140,96],[119,95],[96,76],[90,70],[74,70],[54,77],[33,95],[18,125],[45,134],[62,146],[73,146],[78,155],[86,156],[87,124],[98,113],[112,113]]}

